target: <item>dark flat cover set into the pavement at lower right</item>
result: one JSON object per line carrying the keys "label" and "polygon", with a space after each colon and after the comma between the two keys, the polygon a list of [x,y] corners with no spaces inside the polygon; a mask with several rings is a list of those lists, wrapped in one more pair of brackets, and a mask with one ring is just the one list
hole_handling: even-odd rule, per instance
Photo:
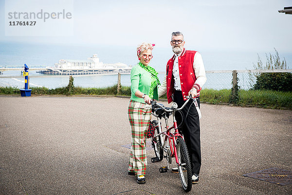
{"label": "dark flat cover set into the pavement at lower right", "polygon": [[285,169],[271,168],[254,173],[244,174],[243,176],[275,183],[281,186],[292,183],[292,172]]}

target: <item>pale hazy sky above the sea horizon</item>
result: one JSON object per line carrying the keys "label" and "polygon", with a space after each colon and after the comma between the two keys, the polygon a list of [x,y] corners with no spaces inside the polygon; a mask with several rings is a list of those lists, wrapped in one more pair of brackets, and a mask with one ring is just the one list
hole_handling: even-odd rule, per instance
{"label": "pale hazy sky above the sea horizon", "polygon": [[[19,7],[26,0],[15,1]],[[31,0],[30,0],[31,1]],[[31,9],[52,8],[47,0]],[[171,33],[181,31],[185,46],[208,50],[292,52],[292,15],[278,10],[292,0],[60,0],[55,9],[72,11],[72,31],[62,36],[5,36],[5,0],[0,0],[0,43],[169,47]],[[68,3],[69,2],[69,3]],[[6,2],[7,3],[7,2]],[[67,3],[67,4],[66,4]],[[28,5],[28,4],[26,4]],[[54,4],[53,4],[54,5]],[[52,5],[51,5],[52,6]],[[19,12],[25,10],[19,10]],[[46,27],[59,27],[54,22]],[[37,32],[37,29],[36,31]],[[18,32],[23,33],[20,31]]]}

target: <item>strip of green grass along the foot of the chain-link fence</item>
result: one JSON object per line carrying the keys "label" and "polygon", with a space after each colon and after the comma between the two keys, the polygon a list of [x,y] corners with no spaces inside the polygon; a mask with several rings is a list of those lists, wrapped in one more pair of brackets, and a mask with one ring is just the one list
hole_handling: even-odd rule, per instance
{"label": "strip of green grass along the foot of the chain-link fence", "polygon": [[[117,93],[117,85],[107,88],[83,88],[73,87],[69,92],[68,87],[48,89],[46,87],[31,87],[32,95],[119,95],[131,96],[130,87],[122,86]],[[20,94],[15,87],[0,87],[0,94]],[[229,103],[231,89],[203,89],[201,90],[201,102],[211,104]],[[166,95],[161,98],[166,99]],[[292,109],[292,92],[280,92],[271,90],[239,90],[237,105],[257,106],[263,108]]]}

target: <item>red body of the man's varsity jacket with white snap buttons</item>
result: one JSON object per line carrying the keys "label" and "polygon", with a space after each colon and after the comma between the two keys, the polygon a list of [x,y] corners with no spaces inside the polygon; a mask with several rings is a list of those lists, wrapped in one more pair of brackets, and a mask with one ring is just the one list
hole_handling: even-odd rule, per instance
{"label": "red body of the man's varsity jacket with white snap buttons", "polygon": [[[194,56],[196,51],[185,50],[183,48],[182,55],[179,57],[179,71],[182,86],[183,99],[186,100],[185,96],[188,96],[188,92],[194,86],[196,81],[195,70],[193,68]],[[168,60],[166,65],[166,95],[168,103],[172,102],[172,94],[174,92],[174,78],[172,75],[173,63],[175,55]],[[201,89],[198,90],[200,92]],[[199,97],[200,93],[196,97]]]}

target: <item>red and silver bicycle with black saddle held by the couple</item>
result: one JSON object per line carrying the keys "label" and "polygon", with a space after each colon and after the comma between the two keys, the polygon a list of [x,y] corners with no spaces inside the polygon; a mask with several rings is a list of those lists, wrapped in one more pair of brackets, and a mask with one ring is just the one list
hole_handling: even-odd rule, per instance
{"label": "red and silver bicycle with black saddle held by the couple", "polygon": [[[178,105],[175,102],[172,104],[171,108],[168,108],[164,107],[163,104],[157,103],[156,101],[151,101],[152,115],[157,117],[157,120],[152,120],[150,124],[152,128],[154,128],[154,136],[151,138],[151,141],[156,156],[151,158],[151,162],[159,162],[165,157],[167,159],[167,166],[161,167],[159,169],[161,173],[164,173],[169,170],[171,158],[175,157],[183,190],[185,192],[189,192],[192,189],[191,163],[186,144],[184,142],[183,136],[178,131],[178,125],[175,119],[175,112],[182,110],[190,99],[192,99],[196,105],[196,98],[186,98],[187,100],[181,108],[177,108]],[[168,118],[171,115],[173,117],[173,125],[169,127]],[[163,131],[160,121],[162,118],[165,120],[165,131]],[[172,129],[174,130],[173,133],[171,133]]]}

